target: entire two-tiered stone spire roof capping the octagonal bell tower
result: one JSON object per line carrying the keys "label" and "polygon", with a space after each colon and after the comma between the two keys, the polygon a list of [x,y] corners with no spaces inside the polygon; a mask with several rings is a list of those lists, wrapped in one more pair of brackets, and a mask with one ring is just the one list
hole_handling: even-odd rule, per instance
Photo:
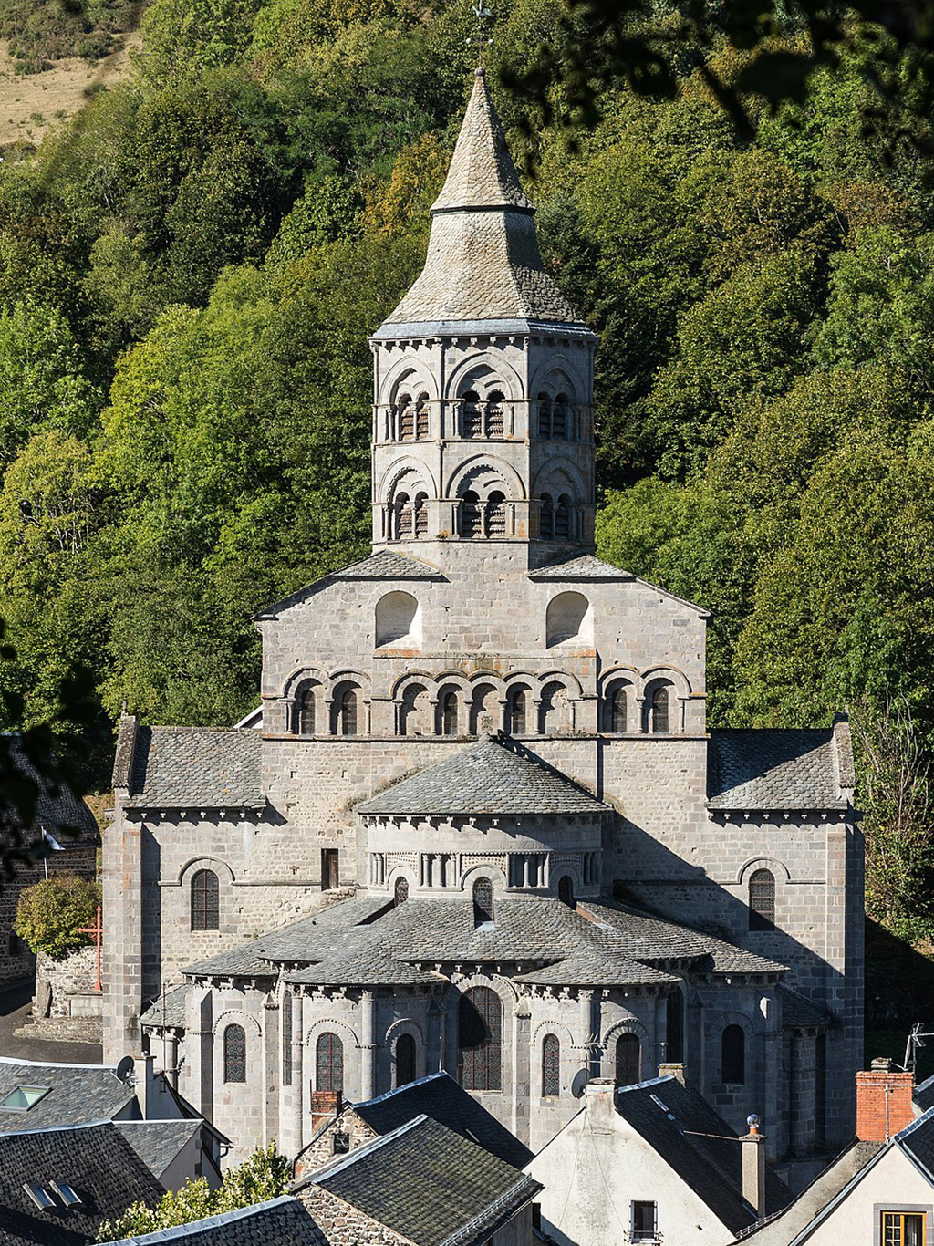
{"label": "entire two-tiered stone spire roof capping the octagonal bell tower", "polygon": [[524,320],[578,333],[580,316],[545,273],[486,75],[477,71],[455,155],[432,206],[425,268],[375,336],[412,325]]}

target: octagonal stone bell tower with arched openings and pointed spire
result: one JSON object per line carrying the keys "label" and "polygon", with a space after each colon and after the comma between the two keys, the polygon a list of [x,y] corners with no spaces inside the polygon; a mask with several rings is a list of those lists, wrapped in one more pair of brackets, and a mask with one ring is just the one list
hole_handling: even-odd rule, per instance
{"label": "octagonal stone bell tower with arched openings and pointed spire", "polygon": [[593,548],[597,338],[542,265],[486,75],[421,275],[370,339],[374,548],[537,567]]}

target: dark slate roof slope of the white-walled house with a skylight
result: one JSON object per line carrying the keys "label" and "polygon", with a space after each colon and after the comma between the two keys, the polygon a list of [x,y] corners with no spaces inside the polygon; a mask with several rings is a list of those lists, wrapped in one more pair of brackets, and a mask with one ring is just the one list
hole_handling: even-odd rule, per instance
{"label": "dark slate roof slope of the white-walled house with a skylight", "polygon": [[[616,1111],[731,1232],[755,1221],[742,1197],[737,1135],[695,1090],[672,1077],[653,1078],[616,1090]],[[766,1169],[766,1215],[790,1201],[788,1187]]]}

